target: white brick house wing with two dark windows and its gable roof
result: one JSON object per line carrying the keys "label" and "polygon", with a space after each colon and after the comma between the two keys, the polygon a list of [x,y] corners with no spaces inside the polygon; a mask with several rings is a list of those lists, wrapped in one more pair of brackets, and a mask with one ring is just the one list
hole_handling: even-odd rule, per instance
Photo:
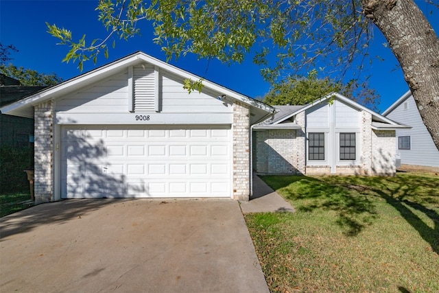
{"label": "white brick house wing with two dark windows and its gable roof", "polygon": [[253,126],[258,174],[394,175],[395,130],[407,128],[338,93],[306,106],[274,106]]}

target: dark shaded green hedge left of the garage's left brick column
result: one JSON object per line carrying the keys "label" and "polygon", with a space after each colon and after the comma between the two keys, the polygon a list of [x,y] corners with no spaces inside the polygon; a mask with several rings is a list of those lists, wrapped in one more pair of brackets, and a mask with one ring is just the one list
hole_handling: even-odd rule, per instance
{"label": "dark shaded green hedge left of the garage's left brick column", "polygon": [[29,181],[23,170],[33,169],[33,148],[15,148],[10,145],[0,145],[0,166],[1,194],[29,191]]}

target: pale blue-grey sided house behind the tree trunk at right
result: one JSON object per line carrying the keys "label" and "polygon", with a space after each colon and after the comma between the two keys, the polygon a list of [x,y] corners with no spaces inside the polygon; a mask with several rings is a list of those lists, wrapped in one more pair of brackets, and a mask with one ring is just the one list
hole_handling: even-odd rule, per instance
{"label": "pale blue-grey sided house behind the tree trunk at right", "polygon": [[401,167],[439,171],[439,150],[420,117],[410,91],[387,108],[383,116],[412,126],[396,130],[396,156],[401,159]]}

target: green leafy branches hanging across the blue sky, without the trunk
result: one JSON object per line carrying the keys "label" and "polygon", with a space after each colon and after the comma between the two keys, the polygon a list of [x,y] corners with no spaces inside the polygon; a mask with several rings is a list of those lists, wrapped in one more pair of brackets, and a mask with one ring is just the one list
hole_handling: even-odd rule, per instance
{"label": "green leafy branches hanging across the blue sky, without the trunk", "polygon": [[[355,56],[368,56],[370,23],[360,0],[101,0],[96,10],[108,35],[91,42],[85,35],[75,41],[71,31],[47,23],[49,34],[70,47],[64,61],[78,60],[80,69],[86,60],[95,62],[100,51],[107,56],[112,36],[128,40],[140,34],[136,24],[143,20],[154,27],[154,43],[168,60],[192,53],[242,62],[255,50],[253,61],[264,67],[269,82],[318,61],[343,71]],[[270,63],[269,56],[277,61]]]}

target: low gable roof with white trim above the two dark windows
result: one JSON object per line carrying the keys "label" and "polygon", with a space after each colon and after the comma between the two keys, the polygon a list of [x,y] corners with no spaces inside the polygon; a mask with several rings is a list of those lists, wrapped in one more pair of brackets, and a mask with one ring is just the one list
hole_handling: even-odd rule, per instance
{"label": "low gable roof with white trim above the two dark windows", "polygon": [[[316,104],[320,104],[322,102],[325,102],[329,99],[339,99],[340,101],[348,104],[349,106],[353,108],[357,108],[359,110],[364,110],[372,115],[372,129],[380,129],[380,130],[392,130],[396,128],[411,128],[410,126],[406,126],[403,124],[399,124],[391,119],[388,119],[387,117],[383,117],[382,115],[379,115],[375,111],[370,110],[369,108],[366,108],[365,106],[362,106],[361,104],[358,104],[357,102],[353,101],[352,99],[349,99],[348,97],[345,97],[344,95],[340,95],[340,93],[329,93],[328,95],[321,97],[320,99],[316,99],[314,102],[311,102],[305,106],[289,106],[291,108],[283,108],[283,110],[280,109],[279,113],[281,115],[274,115],[274,119],[271,121],[266,120],[265,125],[260,124],[259,126],[256,126],[255,128],[259,129],[278,129],[280,124],[285,124],[285,121],[288,119],[294,117],[298,113],[301,113],[312,106],[315,106]],[[278,108],[278,106],[275,106]],[[288,111],[289,113],[285,114],[285,111]],[[278,113],[277,113],[278,114]],[[282,115],[283,114],[283,115]],[[297,124],[294,122],[288,122],[289,129],[298,129]],[[275,127],[276,126],[276,127]],[[287,128],[287,126],[283,126],[283,128]],[[300,128],[300,127],[299,127]]]}

